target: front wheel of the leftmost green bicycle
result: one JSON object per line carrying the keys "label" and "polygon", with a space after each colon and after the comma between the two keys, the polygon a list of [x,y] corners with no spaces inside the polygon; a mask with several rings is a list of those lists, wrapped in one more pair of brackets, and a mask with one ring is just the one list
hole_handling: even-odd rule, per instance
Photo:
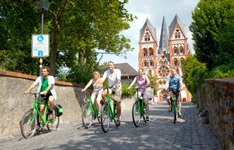
{"label": "front wheel of the leftmost green bicycle", "polygon": [[36,132],[37,126],[37,115],[34,113],[33,109],[28,110],[20,122],[21,134],[25,139],[33,137]]}

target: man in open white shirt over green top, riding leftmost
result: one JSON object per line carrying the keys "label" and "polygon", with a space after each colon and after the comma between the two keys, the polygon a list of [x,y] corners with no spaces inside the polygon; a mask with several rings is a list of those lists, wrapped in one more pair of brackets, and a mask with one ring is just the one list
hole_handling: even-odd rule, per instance
{"label": "man in open white shirt over green top, riding leftmost", "polygon": [[[29,93],[36,85],[40,88],[39,93],[41,93],[40,102],[49,101],[49,119],[53,119],[53,109],[54,109],[54,100],[57,99],[57,95],[54,89],[55,79],[53,76],[49,75],[50,69],[46,66],[42,67],[42,78],[39,76],[35,82],[24,92],[24,94]],[[42,80],[41,80],[42,79]],[[41,85],[41,87],[39,87]],[[40,105],[40,112],[44,114],[45,105]],[[40,126],[40,124],[39,124]]]}

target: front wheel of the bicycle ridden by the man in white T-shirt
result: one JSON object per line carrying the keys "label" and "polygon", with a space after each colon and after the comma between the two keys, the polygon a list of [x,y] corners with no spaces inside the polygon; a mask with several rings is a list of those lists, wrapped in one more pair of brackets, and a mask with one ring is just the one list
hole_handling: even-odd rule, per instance
{"label": "front wheel of the bicycle ridden by the man in white T-shirt", "polygon": [[104,133],[108,132],[110,128],[110,112],[108,109],[108,105],[104,104],[102,107],[102,113],[101,113],[101,126]]}

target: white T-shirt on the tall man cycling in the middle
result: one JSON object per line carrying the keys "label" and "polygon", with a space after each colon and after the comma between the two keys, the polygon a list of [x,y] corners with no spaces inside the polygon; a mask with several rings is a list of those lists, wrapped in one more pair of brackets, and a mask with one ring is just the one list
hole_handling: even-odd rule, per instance
{"label": "white T-shirt on the tall man cycling in the middle", "polygon": [[[118,83],[118,80],[121,80],[121,71],[119,69],[114,69],[113,73],[110,73],[110,70],[106,70],[104,72],[104,75],[102,76],[103,82],[108,78],[108,86],[116,86]],[[120,82],[120,88],[122,87]]]}

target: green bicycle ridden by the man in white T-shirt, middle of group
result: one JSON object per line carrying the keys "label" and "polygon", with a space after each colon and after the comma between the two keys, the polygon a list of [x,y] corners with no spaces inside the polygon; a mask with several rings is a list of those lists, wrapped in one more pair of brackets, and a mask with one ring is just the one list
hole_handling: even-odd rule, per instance
{"label": "green bicycle ridden by the man in white T-shirt, middle of group", "polygon": [[[110,122],[114,120],[116,127],[119,125],[116,123],[117,116],[116,116],[116,101],[111,97],[108,88],[107,89],[107,95],[106,95],[106,101],[102,106],[102,112],[101,112],[101,126],[104,133],[107,133],[110,128]],[[113,100],[113,103],[111,104],[111,100]]]}

